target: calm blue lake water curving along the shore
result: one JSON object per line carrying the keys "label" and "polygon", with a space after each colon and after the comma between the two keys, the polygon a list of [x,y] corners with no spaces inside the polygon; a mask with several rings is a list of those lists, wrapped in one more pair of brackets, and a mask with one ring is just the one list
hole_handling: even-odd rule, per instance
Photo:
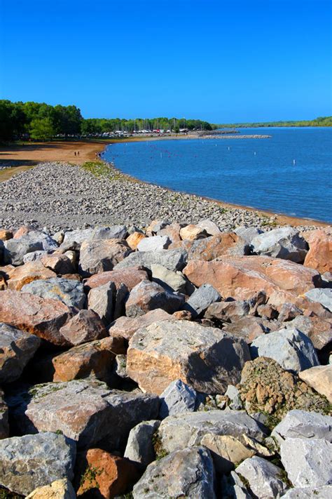
{"label": "calm blue lake water curving along the shore", "polygon": [[120,143],[109,145],[104,159],[164,187],[332,222],[332,128],[240,133],[272,138]]}

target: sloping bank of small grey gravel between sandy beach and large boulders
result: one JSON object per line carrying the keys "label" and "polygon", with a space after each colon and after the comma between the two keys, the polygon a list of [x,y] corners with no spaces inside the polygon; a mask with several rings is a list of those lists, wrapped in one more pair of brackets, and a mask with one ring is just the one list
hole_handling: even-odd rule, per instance
{"label": "sloping bank of small grey gravel between sandy beach and large boulders", "polygon": [[[81,166],[48,162],[2,182],[0,227],[27,224],[56,232],[114,224],[143,228],[155,219],[189,224],[210,218],[224,232],[240,225],[275,228],[273,215],[223,208],[202,197],[130,179],[108,164],[104,169],[106,174],[95,176]],[[305,226],[309,228],[315,227]]]}

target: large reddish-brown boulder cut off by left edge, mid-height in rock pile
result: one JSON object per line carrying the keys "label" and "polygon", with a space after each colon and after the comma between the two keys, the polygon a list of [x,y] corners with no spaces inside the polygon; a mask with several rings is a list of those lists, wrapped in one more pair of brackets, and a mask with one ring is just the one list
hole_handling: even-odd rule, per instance
{"label": "large reddish-brown boulder cut off by left edge, mid-height in rock pile", "polygon": [[67,305],[20,291],[1,291],[0,321],[32,333],[53,345],[68,345],[60,328],[71,318]]}

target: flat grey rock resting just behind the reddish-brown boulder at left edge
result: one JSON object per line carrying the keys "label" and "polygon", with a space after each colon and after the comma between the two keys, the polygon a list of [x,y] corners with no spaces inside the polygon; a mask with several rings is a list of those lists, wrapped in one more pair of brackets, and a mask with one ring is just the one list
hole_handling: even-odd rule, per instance
{"label": "flat grey rock resting just behind the reddish-brown boulder at left edge", "polygon": [[41,298],[60,300],[68,307],[76,307],[79,310],[83,309],[86,301],[83,284],[74,279],[64,279],[63,277],[30,282],[22,287],[22,293],[32,293]]}

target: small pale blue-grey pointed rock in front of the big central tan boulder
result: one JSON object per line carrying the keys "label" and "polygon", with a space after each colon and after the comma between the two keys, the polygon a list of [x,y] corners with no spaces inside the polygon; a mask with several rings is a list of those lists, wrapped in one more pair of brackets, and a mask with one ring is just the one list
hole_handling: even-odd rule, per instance
{"label": "small pale blue-grey pointed rock in front of the big central tan boulder", "polygon": [[160,394],[160,419],[169,415],[195,411],[198,394],[181,380],[174,380]]}

